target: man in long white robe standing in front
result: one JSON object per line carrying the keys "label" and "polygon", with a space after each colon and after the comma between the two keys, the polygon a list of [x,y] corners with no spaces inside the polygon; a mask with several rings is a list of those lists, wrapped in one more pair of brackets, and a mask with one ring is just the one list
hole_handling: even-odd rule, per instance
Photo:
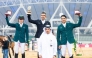
{"label": "man in long white robe standing in front", "polygon": [[39,58],[56,58],[57,40],[50,25],[46,25],[38,43]]}

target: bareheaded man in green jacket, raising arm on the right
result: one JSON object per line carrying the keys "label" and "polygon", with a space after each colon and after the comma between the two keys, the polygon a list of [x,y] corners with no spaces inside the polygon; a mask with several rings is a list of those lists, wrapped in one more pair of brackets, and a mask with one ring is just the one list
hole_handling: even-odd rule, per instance
{"label": "bareheaded man in green jacket, raising arm on the right", "polygon": [[66,48],[68,48],[69,57],[73,58],[72,43],[75,42],[75,39],[73,36],[73,29],[75,27],[81,26],[81,22],[82,22],[81,13],[77,14],[77,15],[79,16],[79,21],[77,24],[66,22],[66,20],[67,20],[66,15],[61,16],[62,23],[58,26],[58,29],[57,29],[57,42],[58,42],[59,48],[62,45],[62,49],[61,49],[62,50],[62,57],[61,58],[65,58]]}

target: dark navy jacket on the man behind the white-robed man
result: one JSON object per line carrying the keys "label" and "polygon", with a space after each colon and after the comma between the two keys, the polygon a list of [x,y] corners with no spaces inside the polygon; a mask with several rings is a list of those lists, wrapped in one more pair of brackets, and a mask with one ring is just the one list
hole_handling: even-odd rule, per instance
{"label": "dark navy jacket on the man behind the white-robed man", "polygon": [[28,21],[30,23],[36,24],[36,26],[37,26],[37,31],[36,31],[36,34],[35,34],[35,38],[40,37],[40,35],[43,32],[43,28],[44,28],[45,25],[47,25],[47,24],[51,25],[49,21],[45,21],[45,23],[42,24],[41,20],[32,20],[31,15],[28,15]]}

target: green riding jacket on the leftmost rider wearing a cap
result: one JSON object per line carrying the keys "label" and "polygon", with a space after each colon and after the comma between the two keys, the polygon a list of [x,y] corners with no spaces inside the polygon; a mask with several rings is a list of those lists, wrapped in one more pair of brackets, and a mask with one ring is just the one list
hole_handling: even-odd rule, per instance
{"label": "green riding jacket on the leftmost rider wearing a cap", "polygon": [[[25,42],[28,43],[28,39],[29,39],[28,25],[23,24],[23,26],[20,27],[19,23],[15,23],[15,24],[9,23],[8,17],[6,17],[6,22],[8,26],[16,28],[15,36],[14,36],[15,42],[19,40],[21,43],[25,43]],[[25,36],[26,36],[26,40],[25,40]]]}

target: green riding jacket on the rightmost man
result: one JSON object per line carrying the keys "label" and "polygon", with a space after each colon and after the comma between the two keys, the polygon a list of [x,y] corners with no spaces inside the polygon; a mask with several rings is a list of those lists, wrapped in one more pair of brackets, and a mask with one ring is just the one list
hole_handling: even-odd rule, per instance
{"label": "green riding jacket on the rightmost man", "polygon": [[75,27],[81,26],[81,22],[82,22],[82,17],[79,17],[79,22],[77,24],[66,23],[66,27],[64,27],[63,24],[59,25],[57,29],[58,45],[65,45],[67,41],[69,43],[74,43],[75,39],[73,36],[73,29]]}

